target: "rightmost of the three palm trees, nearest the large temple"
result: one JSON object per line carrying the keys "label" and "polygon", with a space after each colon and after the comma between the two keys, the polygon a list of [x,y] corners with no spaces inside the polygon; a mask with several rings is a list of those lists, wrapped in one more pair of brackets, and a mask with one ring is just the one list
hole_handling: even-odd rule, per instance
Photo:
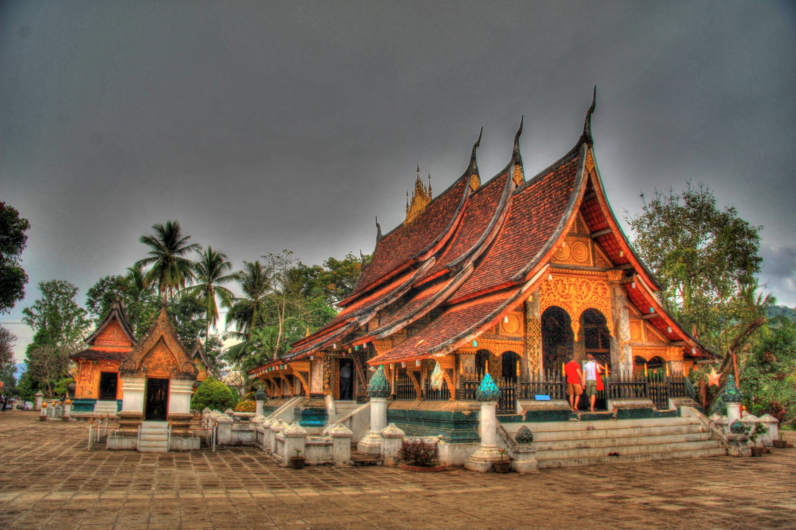
{"label": "rightmost of the three palm trees, nearest the large temple", "polygon": [[243,296],[235,298],[227,314],[227,326],[234,324],[236,331],[230,334],[248,342],[258,319],[260,323],[263,321],[263,307],[271,289],[271,275],[258,259],[254,262],[244,261],[243,270],[237,271],[234,276]]}

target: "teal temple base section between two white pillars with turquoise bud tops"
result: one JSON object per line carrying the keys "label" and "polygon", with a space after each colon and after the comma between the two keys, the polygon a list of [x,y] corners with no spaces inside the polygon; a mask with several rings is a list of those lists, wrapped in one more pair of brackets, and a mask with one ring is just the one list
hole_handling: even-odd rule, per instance
{"label": "teal temple base section between two white pillars with turquoise bud tops", "polygon": [[478,411],[423,411],[388,409],[388,423],[409,436],[439,436],[451,443],[479,442]]}

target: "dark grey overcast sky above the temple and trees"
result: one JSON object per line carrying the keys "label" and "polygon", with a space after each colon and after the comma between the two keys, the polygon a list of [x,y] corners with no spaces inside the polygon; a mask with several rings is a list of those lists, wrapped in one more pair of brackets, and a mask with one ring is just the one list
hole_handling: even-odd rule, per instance
{"label": "dark grey overcast sky above the temple and trees", "polygon": [[[0,193],[32,228],[27,298],[121,274],[178,219],[236,266],[373,250],[416,162],[436,192],[520,116],[526,173],[595,150],[619,216],[704,181],[761,224],[796,303],[794,2],[3,2]],[[10,325],[23,356],[31,332]]]}

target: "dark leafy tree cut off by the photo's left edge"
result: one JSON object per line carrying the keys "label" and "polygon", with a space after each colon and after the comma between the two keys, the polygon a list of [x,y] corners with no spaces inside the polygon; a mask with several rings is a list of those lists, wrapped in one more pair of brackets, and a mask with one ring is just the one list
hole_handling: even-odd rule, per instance
{"label": "dark leafy tree cut off by the photo's left edge", "polygon": [[27,219],[16,208],[0,202],[0,313],[8,313],[22,298],[28,275],[21,267],[22,251],[28,244]]}

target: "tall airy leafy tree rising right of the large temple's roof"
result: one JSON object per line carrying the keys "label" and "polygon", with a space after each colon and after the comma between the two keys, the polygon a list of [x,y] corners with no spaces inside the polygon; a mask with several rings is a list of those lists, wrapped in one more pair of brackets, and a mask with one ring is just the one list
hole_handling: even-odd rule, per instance
{"label": "tall airy leafy tree rising right of the large temple's roof", "polygon": [[717,208],[712,190],[690,182],[681,193],[656,191],[627,221],[670,314],[708,345],[732,341],[722,334],[732,322],[728,314],[754,305],[762,227],[740,219],[734,207]]}

